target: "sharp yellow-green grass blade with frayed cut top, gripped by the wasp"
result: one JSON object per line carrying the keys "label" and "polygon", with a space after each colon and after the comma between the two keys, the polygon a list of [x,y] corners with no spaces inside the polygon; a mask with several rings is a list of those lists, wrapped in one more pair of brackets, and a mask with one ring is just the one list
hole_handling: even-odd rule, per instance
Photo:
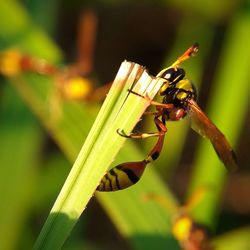
{"label": "sharp yellow-green grass blade with frayed cut top, gripped by the wasp", "polygon": [[59,249],[62,246],[125,141],[117,134],[117,129],[130,132],[149,106],[146,98],[128,92],[134,83],[135,92],[150,98],[162,84],[139,65],[129,62],[121,65],[34,249]]}

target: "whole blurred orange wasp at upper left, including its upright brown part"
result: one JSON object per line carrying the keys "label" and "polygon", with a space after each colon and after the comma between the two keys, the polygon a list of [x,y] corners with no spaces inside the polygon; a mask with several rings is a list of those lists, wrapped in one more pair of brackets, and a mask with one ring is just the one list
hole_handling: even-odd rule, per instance
{"label": "whole blurred orange wasp at upper left, including its upright brown part", "polygon": [[17,77],[23,73],[50,76],[54,83],[52,99],[102,101],[110,85],[96,88],[94,84],[96,79],[92,73],[96,30],[97,17],[92,10],[86,10],[79,20],[78,58],[73,65],[60,67],[45,59],[22,53],[20,49],[11,48],[0,52],[0,73],[6,77]]}

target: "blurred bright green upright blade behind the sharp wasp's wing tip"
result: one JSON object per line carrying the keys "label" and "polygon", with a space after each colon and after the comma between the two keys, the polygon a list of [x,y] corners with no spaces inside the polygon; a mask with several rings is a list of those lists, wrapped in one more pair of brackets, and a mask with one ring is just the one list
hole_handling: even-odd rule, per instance
{"label": "blurred bright green upright blade behind the sharp wasp's wing tip", "polygon": [[[209,117],[232,145],[237,144],[249,107],[250,45],[246,43],[249,38],[246,33],[248,29],[249,15],[239,15],[231,24],[208,107]],[[211,192],[207,192],[203,202],[194,211],[199,221],[211,227],[214,226],[214,218],[218,214],[218,203],[227,174],[209,141],[202,140],[196,155],[191,189],[199,186],[211,187]]]}

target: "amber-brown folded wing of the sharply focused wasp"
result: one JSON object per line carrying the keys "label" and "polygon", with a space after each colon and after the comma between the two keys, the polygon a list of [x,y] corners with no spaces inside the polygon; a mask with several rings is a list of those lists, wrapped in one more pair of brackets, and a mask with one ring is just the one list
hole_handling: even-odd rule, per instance
{"label": "amber-brown folded wing of the sharply focused wasp", "polygon": [[226,137],[216,127],[216,125],[205,115],[194,100],[188,101],[188,114],[191,117],[191,127],[201,136],[208,138],[222,160],[230,171],[237,169],[235,153],[227,141]]}

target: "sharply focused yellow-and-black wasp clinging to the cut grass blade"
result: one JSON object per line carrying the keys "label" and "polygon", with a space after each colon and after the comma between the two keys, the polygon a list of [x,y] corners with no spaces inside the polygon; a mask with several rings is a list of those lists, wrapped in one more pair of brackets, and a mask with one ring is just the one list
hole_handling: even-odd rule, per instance
{"label": "sharply focused yellow-and-black wasp clinging to the cut grass blade", "polygon": [[[237,168],[235,153],[223,133],[207,117],[207,115],[198,106],[197,92],[192,82],[185,78],[185,70],[180,64],[194,56],[199,49],[198,43],[193,44],[181,55],[170,67],[160,71],[156,78],[164,80],[159,95],[163,97],[162,102],[150,100],[151,106],[155,107],[153,112],[145,112],[145,115],[152,115],[157,128],[155,133],[131,133],[126,134],[124,131],[117,132],[126,138],[148,138],[158,137],[158,140],[149,152],[147,157],[138,162],[125,162],[112,168],[102,178],[98,191],[116,191],[125,189],[137,183],[148,163],[156,160],[162,150],[164,137],[167,132],[167,121],[179,121],[186,116],[191,118],[191,127],[202,137],[208,138],[218,157],[229,170]],[[131,93],[140,96],[138,93],[130,90]]]}

